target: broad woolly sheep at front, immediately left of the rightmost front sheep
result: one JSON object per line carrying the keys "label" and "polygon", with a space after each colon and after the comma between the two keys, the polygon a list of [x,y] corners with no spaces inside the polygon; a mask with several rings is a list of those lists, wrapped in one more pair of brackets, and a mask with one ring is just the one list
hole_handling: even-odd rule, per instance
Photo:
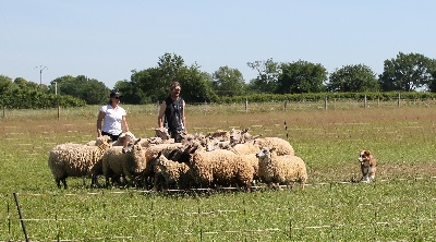
{"label": "broad woolly sheep at front, immediately left of the rightmost front sheep", "polygon": [[250,189],[254,169],[243,156],[227,149],[193,150],[189,166],[201,186],[237,184]]}

